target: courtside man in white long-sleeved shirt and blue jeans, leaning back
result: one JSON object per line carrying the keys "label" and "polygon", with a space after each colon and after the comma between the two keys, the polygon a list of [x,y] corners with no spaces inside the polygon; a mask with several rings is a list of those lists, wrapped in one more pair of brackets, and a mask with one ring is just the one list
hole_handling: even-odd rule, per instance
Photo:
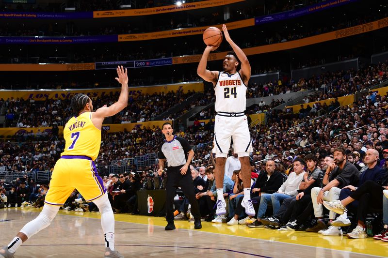
{"label": "courtside man in white long-sleeved shirt and blue jeans, leaning back", "polygon": [[[286,182],[284,182],[279,190],[274,194],[262,194],[260,198],[259,212],[258,212],[258,221],[262,219],[267,211],[268,203],[272,203],[272,208],[274,214],[280,209],[280,202],[284,199],[287,199],[298,194],[299,185],[303,180],[305,172],[305,162],[296,158],[293,162],[294,171],[290,173]],[[256,227],[263,227],[260,222],[260,225],[256,224]]]}

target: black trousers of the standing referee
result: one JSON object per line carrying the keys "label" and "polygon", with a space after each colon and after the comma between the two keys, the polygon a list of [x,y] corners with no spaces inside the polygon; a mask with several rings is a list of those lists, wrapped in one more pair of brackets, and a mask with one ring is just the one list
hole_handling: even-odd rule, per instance
{"label": "black trousers of the standing referee", "polygon": [[191,204],[191,213],[194,219],[201,219],[199,213],[198,201],[195,198],[194,183],[191,172],[187,169],[186,174],[180,173],[180,168],[168,167],[167,169],[167,182],[166,182],[166,220],[167,222],[174,222],[174,197],[176,196],[177,188],[182,189],[185,197],[189,199]]}

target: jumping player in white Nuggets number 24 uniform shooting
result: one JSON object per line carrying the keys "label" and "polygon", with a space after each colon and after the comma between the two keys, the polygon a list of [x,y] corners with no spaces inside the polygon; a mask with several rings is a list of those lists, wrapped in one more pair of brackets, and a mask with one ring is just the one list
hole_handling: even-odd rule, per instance
{"label": "jumping player in white Nuggets number 24 uniform shooting", "polygon": [[[242,207],[245,213],[255,215],[250,195],[251,169],[249,153],[252,152],[252,142],[249,133],[247,117],[244,114],[246,107],[246,89],[251,76],[249,61],[233,40],[230,38],[226,25],[222,26],[224,37],[234,51],[230,51],[222,63],[223,71],[210,71],[206,69],[210,51],[218,46],[207,46],[199,61],[197,74],[205,81],[213,83],[215,91],[215,116],[214,145],[215,145],[215,183],[217,188],[217,215],[226,213],[226,203],[223,196],[223,182],[225,173],[225,162],[230,147],[230,139],[233,138],[234,153],[238,153],[244,197]],[[241,69],[240,69],[241,67]]]}

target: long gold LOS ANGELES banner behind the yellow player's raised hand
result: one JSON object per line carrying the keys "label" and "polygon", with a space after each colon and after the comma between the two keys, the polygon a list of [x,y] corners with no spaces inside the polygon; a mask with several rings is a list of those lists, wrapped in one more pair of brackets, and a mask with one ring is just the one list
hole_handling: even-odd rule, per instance
{"label": "long gold LOS ANGELES banner behind the yellow player's raised hand", "polygon": [[[187,82],[187,83],[176,83],[170,85],[162,86],[144,86],[144,87],[129,87],[129,96],[137,97],[141,94],[153,94],[168,91],[183,91],[187,93],[188,91],[204,91],[204,86],[202,82]],[[105,88],[105,89],[81,89],[81,90],[42,90],[42,91],[8,91],[0,90],[0,98],[7,100],[8,98],[13,97],[23,98],[24,100],[33,99],[33,100],[45,100],[47,99],[70,99],[77,93],[87,94],[90,98],[95,99],[97,97],[115,94],[120,92],[121,88]]]}

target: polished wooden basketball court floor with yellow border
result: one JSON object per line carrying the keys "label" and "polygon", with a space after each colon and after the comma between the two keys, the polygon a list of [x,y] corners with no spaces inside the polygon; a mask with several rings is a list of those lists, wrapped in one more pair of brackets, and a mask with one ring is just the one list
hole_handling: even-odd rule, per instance
{"label": "polished wooden basketball court floor with yellow border", "polygon": [[[15,236],[25,223],[37,216],[38,209],[0,210],[0,244]],[[116,247],[125,257],[180,258],[358,258],[388,257],[388,243],[346,236],[278,231],[245,226],[203,222],[176,222],[177,230],[165,231],[159,217],[116,214]],[[103,257],[104,240],[99,213],[60,211],[49,228],[24,243],[16,258]]]}

